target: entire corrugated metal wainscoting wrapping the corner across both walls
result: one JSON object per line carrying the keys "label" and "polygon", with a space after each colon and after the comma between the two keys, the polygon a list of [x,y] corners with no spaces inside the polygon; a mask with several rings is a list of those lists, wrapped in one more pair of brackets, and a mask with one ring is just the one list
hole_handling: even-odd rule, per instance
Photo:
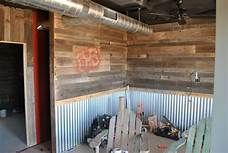
{"label": "entire corrugated metal wainscoting wrapping the corner across both walls", "polygon": [[120,96],[128,98],[131,110],[135,111],[137,105],[142,103],[145,116],[165,115],[181,130],[188,129],[200,119],[211,116],[212,113],[213,97],[210,95],[189,95],[138,88],[131,88],[128,93],[118,91],[57,105],[57,152],[70,150],[84,142],[94,118],[103,114],[114,115],[117,112]]}

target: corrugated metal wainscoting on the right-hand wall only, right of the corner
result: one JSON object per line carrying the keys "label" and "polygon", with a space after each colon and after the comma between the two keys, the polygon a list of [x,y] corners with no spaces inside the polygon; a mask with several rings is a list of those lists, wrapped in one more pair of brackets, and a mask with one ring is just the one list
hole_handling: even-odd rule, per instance
{"label": "corrugated metal wainscoting on the right-hand wall only, right of the corner", "polygon": [[133,110],[136,110],[137,104],[142,103],[145,116],[156,114],[161,118],[165,115],[182,131],[212,114],[213,98],[209,96],[199,97],[134,89],[130,91],[130,98]]}

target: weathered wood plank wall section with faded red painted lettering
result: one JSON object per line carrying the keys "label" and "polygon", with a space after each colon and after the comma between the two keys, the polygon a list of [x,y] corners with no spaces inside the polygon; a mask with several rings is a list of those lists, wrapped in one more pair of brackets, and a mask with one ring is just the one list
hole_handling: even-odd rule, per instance
{"label": "weathered wood plank wall section with faded red painted lettering", "polygon": [[98,24],[72,24],[63,18],[54,16],[55,99],[123,87],[127,65],[126,32]]}

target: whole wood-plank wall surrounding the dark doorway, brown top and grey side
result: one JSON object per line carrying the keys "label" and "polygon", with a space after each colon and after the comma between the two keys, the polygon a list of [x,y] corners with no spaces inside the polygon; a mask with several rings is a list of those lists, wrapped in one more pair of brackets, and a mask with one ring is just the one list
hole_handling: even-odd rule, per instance
{"label": "whole wood-plank wall surrounding the dark doorway, brown top and grey side", "polygon": [[27,145],[36,144],[32,51],[32,10],[0,5],[0,42],[23,44]]}

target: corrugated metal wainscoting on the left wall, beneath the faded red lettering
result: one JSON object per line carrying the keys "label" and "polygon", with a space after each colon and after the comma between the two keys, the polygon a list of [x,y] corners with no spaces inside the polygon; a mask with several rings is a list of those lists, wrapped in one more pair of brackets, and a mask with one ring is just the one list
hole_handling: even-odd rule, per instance
{"label": "corrugated metal wainscoting on the left wall, beneath the faded red lettering", "polygon": [[94,118],[117,112],[119,96],[125,92],[92,97],[56,106],[56,150],[58,153],[74,148],[85,140]]}

